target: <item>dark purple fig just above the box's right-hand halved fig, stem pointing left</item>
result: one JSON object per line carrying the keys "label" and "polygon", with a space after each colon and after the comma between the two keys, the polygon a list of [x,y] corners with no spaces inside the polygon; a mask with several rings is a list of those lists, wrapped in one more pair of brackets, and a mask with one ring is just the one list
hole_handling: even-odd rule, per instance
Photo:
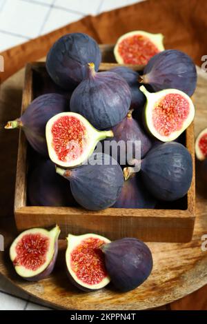
{"label": "dark purple fig just above the box's right-hand halved fig, stem pointing left", "polygon": [[149,84],[155,92],[170,88],[192,96],[197,84],[197,72],[187,54],[179,50],[164,50],[150,59],[139,81]]}

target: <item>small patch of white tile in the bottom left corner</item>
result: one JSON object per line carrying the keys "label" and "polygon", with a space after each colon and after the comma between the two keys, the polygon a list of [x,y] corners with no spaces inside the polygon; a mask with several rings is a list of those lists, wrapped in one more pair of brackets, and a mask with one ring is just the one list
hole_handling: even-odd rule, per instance
{"label": "small patch of white tile in the bottom left corner", "polygon": [[26,301],[0,292],[0,310],[24,310]]}

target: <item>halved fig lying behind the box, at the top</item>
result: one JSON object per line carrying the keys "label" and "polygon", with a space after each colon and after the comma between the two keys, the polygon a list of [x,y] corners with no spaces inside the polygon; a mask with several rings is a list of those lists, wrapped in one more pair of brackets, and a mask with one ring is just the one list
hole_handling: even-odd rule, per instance
{"label": "halved fig lying behind the box, at the top", "polygon": [[155,54],[164,50],[163,34],[150,34],[142,30],[128,32],[119,37],[115,59],[120,64],[146,65]]}

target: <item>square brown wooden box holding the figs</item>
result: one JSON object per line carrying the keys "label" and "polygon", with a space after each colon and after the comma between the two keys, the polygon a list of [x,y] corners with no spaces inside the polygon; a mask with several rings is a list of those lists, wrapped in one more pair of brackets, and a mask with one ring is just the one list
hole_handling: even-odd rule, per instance
{"label": "square brown wooden box holding the figs", "polygon": [[[105,46],[103,57],[112,61],[110,46]],[[113,63],[101,63],[100,70],[108,70]],[[140,67],[134,67],[139,69]],[[23,89],[23,113],[28,104],[43,93],[61,91],[46,73],[45,63],[30,63],[26,67]],[[17,181],[14,214],[19,231],[30,227],[49,227],[57,223],[61,237],[70,232],[84,234],[94,232],[119,239],[134,236],[143,241],[188,242],[193,235],[195,223],[195,152],[194,129],[190,125],[184,134],[184,144],[193,158],[193,182],[188,194],[174,203],[163,203],[157,209],[108,208],[100,212],[83,210],[81,207],[36,207],[27,205],[27,174],[31,163],[28,145],[22,131],[19,135]],[[30,150],[30,149],[29,149]],[[69,183],[68,183],[69,185]]]}

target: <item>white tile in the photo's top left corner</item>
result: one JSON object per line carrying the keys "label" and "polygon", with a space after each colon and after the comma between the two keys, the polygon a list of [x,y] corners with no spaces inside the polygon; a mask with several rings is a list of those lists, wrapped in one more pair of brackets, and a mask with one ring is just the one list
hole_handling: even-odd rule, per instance
{"label": "white tile in the photo's top left corner", "polygon": [[28,38],[37,37],[49,9],[37,3],[7,0],[0,12],[0,31]]}

